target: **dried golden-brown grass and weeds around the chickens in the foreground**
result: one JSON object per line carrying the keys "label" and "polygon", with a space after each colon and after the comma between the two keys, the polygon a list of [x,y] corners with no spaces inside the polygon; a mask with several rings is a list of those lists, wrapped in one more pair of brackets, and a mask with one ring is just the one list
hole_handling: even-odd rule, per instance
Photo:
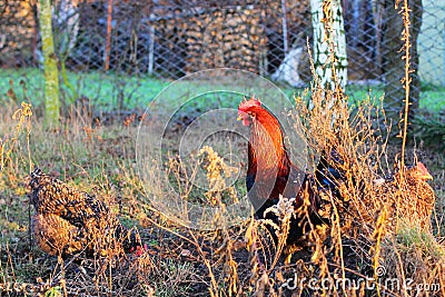
{"label": "dried golden-brown grass and weeds around the chickens in the foreground", "polygon": [[[409,67],[406,76],[405,83]],[[195,170],[205,172],[200,177],[176,157],[165,160],[170,181],[180,192],[178,211],[187,214],[182,201],[219,207],[219,217],[212,219],[220,228],[199,231],[159,207],[162,197],[157,196],[167,185],[156,178],[158,168],[146,168],[154,185],[148,191],[152,197],[145,197],[147,189],[132,164],[135,117],[119,123],[123,129],[106,127],[92,119],[89,107],[80,105],[68,113],[62,131],[44,131],[30,119],[28,106],[13,120],[2,116],[0,126],[8,132],[0,141],[0,182],[6,196],[0,197],[0,206],[1,224],[8,225],[0,246],[0,289],[9,296],[444,296],[443,188],[436,192],[434,230],[418,228],[415,214],[405,218],[394,214],[404,198],[418,196],[403,185],[404,179],[394,195],[382,195],[376,188],[376,179],[395,166],[403,168],[400,164],[409,157],[405,147],[396,149],[400,154],[388,150],[390,127],[379,102],[367,98],[349,106],[340,90],[323,90],[317,83],[309,105],[305,96],[296,98],[289,118],[301,123],[296,130],[307,141],[312,162],[335,148],[346,179],[339,185],[340,198],[320,194],[329,209],[329,228],[313,228],[304,239],[306,247],[294,250],[285,248],[293,215],[288,199],[269,210],[281,218],[280,226],[251,217],[235,226],[226,224],[226,215],[233,215],[225,212],[226,206],[237,202],[243,191],[236,195],[239,189],[228,186],[233,168],[210,147],[195,157]],[[12,116],[18,108],[4,107],[2,115]],[[121,220],[139,220],[149,251],[140,258],[109,254],[85,260],[80,267],[32,248],[21,184],[31,161],[52,168],[65,180],[72,178],[69,182],[80,188],[90,190],[98,184],[96,191],[120,197],[115,211],[123,214]],[[443,180],[444,172],[438,176]],[[207,182],[207,190],[195,191],[196,178]],[[277,244],[270,230],[276,230]],[[294,255],[285,259],[290,251]]]}

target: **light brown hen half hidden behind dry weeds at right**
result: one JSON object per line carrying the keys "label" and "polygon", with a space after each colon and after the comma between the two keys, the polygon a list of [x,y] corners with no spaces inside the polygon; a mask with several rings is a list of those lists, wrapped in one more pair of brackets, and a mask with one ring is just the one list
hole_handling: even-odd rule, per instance
{"label": "light brown hen half hidden behind dry weeds at right", "polygon": [[[409,218],[422,229],[431,229],[436,196],[427,180],[433,176],[423,162],[399,169],[386,179],[375,180],[375,191],[379,200],[390,206],[390,215]],[[394,226],[393,226],[394,227]]]}

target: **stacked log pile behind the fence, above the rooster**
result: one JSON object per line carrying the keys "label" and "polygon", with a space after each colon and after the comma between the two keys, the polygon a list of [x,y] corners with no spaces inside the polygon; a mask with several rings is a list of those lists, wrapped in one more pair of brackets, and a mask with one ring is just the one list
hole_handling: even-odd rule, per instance
{"label": "stacked log pile behind the fence, above the rooster", "polygon": [[181,18],[156,26],[158,42],[166,42],[167,47],[182,44],[186,72],[220,67],[259,72],[267,43],[260,9],[231,7],[195,11],[182,11]]}

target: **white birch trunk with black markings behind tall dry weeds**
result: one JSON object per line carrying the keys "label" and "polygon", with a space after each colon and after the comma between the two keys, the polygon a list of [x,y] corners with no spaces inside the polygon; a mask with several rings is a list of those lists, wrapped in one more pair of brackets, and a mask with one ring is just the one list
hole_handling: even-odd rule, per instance
{"label": "white birch trunk with black markings behind tall dry weeds", "polygon": [[[314,66],[320,87],[343,91],[347,83],[346,36],[339,0],[310,0]],[[330,49],[334,49],[333,51]]]}

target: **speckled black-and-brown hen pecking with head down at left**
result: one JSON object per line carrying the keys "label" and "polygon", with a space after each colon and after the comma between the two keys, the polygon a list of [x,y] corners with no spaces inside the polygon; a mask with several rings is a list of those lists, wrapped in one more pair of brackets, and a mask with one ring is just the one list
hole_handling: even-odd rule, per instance
{"label": "speckled black-and-brown hen pecking with head down at left", "polygon": [[141,256],[146,250],[135,230],[127,230],[101,200],[69,187],[37,168],[30,177],[34,207],[32,230],[40,248],[67,258],[112,250]]}

